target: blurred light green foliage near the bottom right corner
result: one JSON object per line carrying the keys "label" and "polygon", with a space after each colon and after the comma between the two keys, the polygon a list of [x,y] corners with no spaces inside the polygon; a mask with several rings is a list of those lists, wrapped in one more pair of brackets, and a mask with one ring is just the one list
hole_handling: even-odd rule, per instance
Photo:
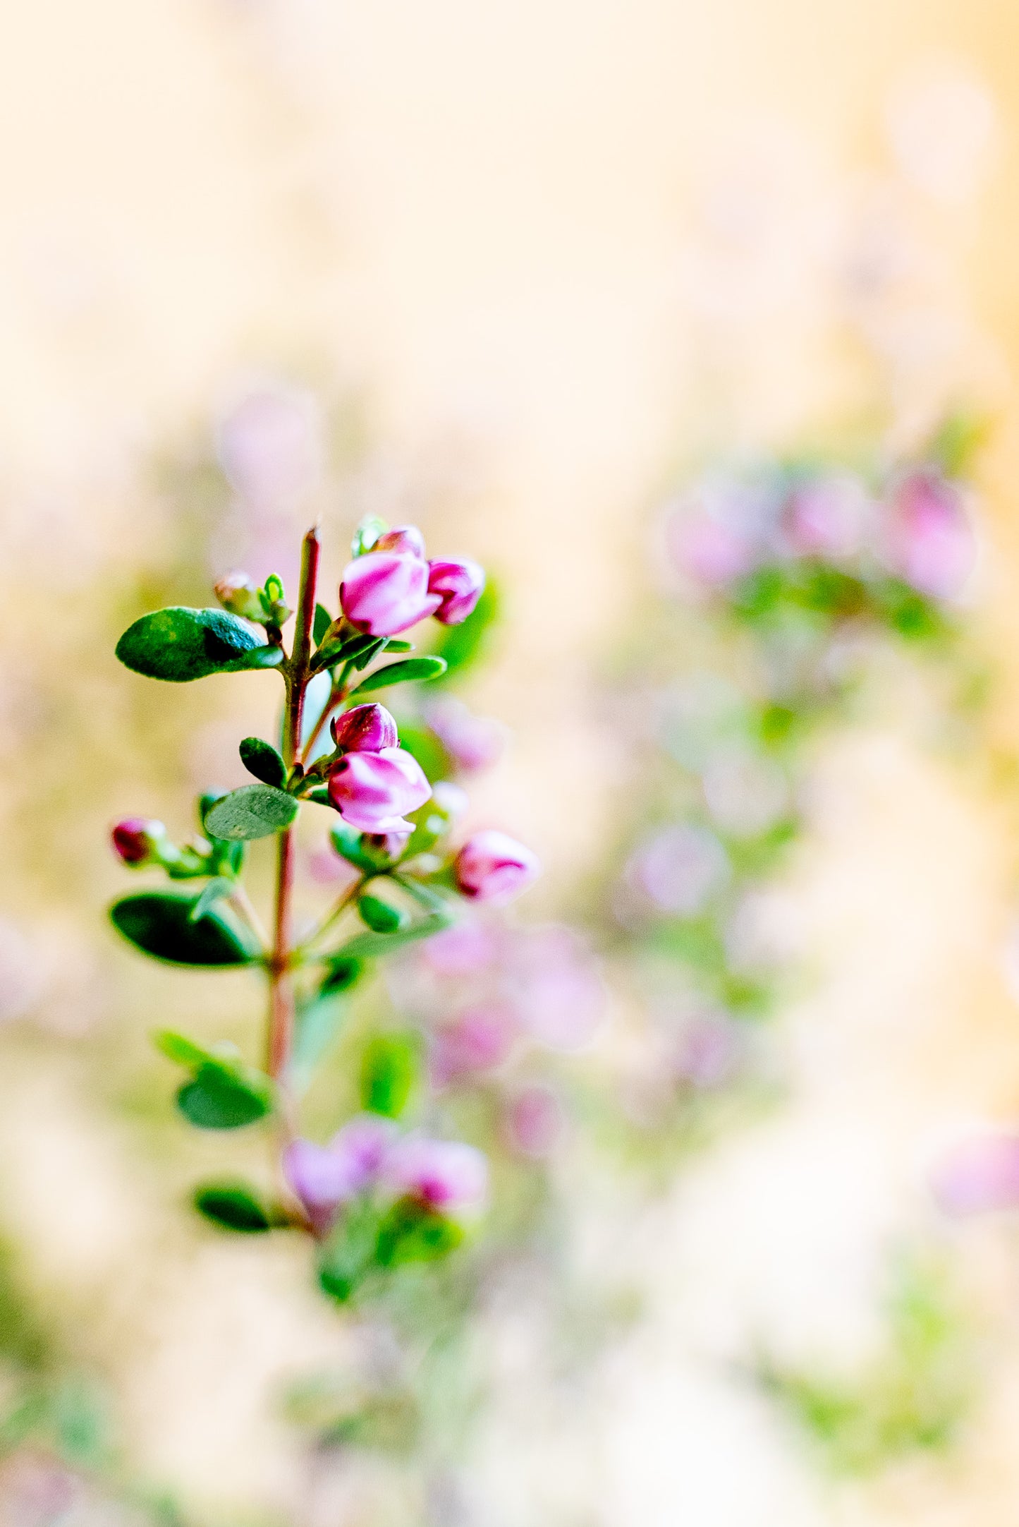
{"label": "blurred light green foliage near the bottom right corner", "polygon": [[885,1310],[883,1351],[851,1377],[761,1361],[757,1377],[836,1474],[873,1474],[940,1452],[973,1399],[969,1321],[944,1267],[906,1260]]}

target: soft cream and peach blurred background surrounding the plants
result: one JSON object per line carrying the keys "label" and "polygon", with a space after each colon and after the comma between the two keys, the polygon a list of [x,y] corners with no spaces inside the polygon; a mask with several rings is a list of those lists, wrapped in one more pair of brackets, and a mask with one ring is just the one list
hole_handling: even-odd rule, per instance
{"label": "soft cream and peach blurred background surrounding the plants", "polygon": [[[1019,1113],[1017,47],[1005,0],[9,18],[5,1521],[1014,1521],[1019,1234],[931,1183]],[[944,631],[909,644],[882,615],[851,695],[822,686],[775,785],[789,852],[734,870],[783,976],[749,982],[760,1014],[746,983],[726,1002],[767,1022],[740,1029],[740,1070],[728,1009],[690,1029],[686,1003],[697,1048],[662,1099],[642,1014],[682,983],[641,953],[633,896],[680,922],[700,902],[639,858],[686,809],[654,750],[705,673],[747,715],[813,716],[775,699],[749,617],[734,635],[683,583],[664,525],[718,470],[834,464],[880,498],[941,440],[950,475],[958,418],[979,421],[976,565]],[[497,574],[462,695],[513,734],[471,822],[540,854],[520,919],[577,927],[603,997],[551,1044],[558,1153],[525,1150],[554,1234],[479,1284],[445,1368],[415,1367],[439,1420],[362,1445],[322,1422],[323,1387],[398,1370],[413,1309],[348,1319],[299,1248],[189,1220],[214,1153],[148,1034],[243,1037],[252,993],[142,967],[105,907],[111,822],[185,831],[276,701],[244,675],[142,693],[119,631],[238,563],[293,583],[316,515],[334,582],[368,512]],[[705,786],[715,822],[757,843],[767,812],[740,811],[769,780]],[[709,880],[703,837],[680,849]],[[975,1197],[1017,1200],[995,1170]]]}

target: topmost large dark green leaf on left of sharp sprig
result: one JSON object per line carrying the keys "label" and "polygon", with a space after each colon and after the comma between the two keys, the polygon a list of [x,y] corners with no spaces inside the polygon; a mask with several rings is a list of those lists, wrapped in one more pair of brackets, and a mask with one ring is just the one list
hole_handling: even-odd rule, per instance
{"label": "topmost large dark green leaf on left of sharp sprig", "polygon": [[185,684],[209,673],[276,667],[281,647],[270,647],[261,631],[226,609],[186,609],[174,605],[142,615],[124,632],[116,655],[125,667],[146,678]]}

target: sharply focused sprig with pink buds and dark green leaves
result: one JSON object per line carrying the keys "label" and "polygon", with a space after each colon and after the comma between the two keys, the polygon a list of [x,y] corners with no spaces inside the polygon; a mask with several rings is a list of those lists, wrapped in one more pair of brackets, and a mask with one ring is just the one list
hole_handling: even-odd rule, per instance
{"label": "sharply focused sprig with pink buds and dark green leaves", "polygon": [[[445,670],[438,655],[401,657],[412,646],[398,632],[427,617],[445,626],[467,621],[484,591],[482,570],[427,562],[415,527],[389,530],[371,519],[354,538],[334,617],[316,599],[319,550],[313,528],[302,545],[290,651],[284,626],[291,609],[276,576],[255,588],[244,574],[230,574],[217,585],[221,609],[156,611],[121,637],[117,657],[136,673],[186,683],[273,669],[285,693],[279,748],[243,739],[241,762],[255,783],[200,797],[195,837],[178,844],[159,822],[117,823],[113,846],[130,869],[201,884],[124,896],[111,918],[151,957],[262,971],[268,1020],[261,1066],[227,1044],[157,1035],[159,1049],[188,1072],[177,1106],[192,1125],[233,1130],[272,1119],[278,1130],[281,1193],[212,1182],[197,1190],[195,1206],[238,1232],[307,1232],[317,1243],[320,1286],[345,1301],[401,1263],[452,1251],[482,1206],[487,1176],[473,1147],[412,1127],[421,1066],[413,1040],[401,1034],[377,1034],[365,1051],[363,1118],[331,1145],[304,1139],[299,1101],[323,1049],[322,1012],[328,1017],[374,960],[450,927],[461,899],[506,901],[538,864],[496,831],[455,844],[462,793],[433,788],[400,745],[395,718],[369,698]],[[378,663],[389,654],[398,660]],[[328,675],[328,689],[317,713],[305,715],[316,675]],[[331,747],[323,745],[326,733]],[[351,878],[314,927],[297,928],[294,828],[305,803],[334,814],[333,846]],[[247,844],[268,837],[276,838],[276,884],[267,935],[243,876]],[[354,915],[362,931],[340,936]]]}

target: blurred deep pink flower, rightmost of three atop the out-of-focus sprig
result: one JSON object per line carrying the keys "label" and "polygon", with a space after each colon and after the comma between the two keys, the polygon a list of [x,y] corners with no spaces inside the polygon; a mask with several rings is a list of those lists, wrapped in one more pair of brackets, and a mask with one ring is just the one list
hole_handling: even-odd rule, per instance
{"label": "blurred deep pink flower, rightmost of three atop the out-of-focus sprig", "polygon": [[956,487],[934,472],[914,472],[889,502],[886,556],[921,594],[953,599],[976,562],[976,539]]}

